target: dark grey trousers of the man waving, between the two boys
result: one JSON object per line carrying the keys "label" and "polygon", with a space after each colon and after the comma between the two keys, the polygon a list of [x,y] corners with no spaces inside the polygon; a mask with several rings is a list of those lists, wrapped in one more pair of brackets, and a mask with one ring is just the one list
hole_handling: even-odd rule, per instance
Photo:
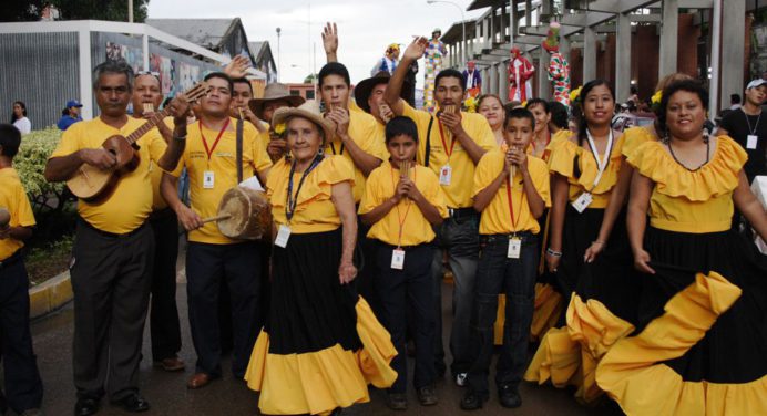
{"label": "dark grey trousers of the man waving, between the two boys", "polygon": [[[479,214],[463,214],[442,222],[437,232],[439,248],[447,250],[453,273],[452,315],[450,352],[453,374],[466,373],[471,364],[469,350],[469,324],[471,304],[474,297],[474,278],[479,259]],[[434,308],[437,309],[437,333],[434,342],[436,367],[444,370],[444,346],[442,345],[442,250],[437,250],[431,264],[434,283]]]}

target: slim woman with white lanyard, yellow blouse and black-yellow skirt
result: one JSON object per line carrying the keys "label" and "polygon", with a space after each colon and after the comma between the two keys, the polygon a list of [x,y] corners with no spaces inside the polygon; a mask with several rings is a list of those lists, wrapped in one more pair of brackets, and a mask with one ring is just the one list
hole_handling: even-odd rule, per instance
{"label": "slim woman with white lanyard, yellow blouse and black-yellow skirt", "polygon": [[[621,170],[623,137],[611,127],[614,94],[602,80],[586,83],[577,98],[580,131],[554,146],[551,235],[545,261],[556,274],[558,289],[569,300],[566,322],[541,341],[525,379],[555,386],[579,386],[576,397],[593,402],[602,391],[594,382],[600,358],[612,344],[633,331],[635,290],[631,250],[623,226],[605,240],[597,235]],[[621,214],[625,218],[625,211]],[[604,247],[585,260],[589,247]]]}

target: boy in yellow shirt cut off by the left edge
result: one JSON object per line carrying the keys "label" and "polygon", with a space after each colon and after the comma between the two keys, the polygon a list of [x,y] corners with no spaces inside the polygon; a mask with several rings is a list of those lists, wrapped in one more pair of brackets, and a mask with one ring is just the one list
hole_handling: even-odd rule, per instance
{"label": "boy in yellow shirt cut off by the left edge", "polygon": [[21,253],[22,240],[32,237],[34,216],[13,169],[20,144],[19,131],[0,124],[0,207],[10,214],[10,222],[0,219],[0,356],[6,367],[0,414],[6,414],[9,406],[18,415],[33,413],[42,401],[42,382],[29,330],[29,278]]}

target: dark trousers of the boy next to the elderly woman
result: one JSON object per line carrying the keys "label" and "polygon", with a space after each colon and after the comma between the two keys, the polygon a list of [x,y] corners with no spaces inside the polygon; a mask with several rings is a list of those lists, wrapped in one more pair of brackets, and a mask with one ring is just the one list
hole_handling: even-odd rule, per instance
{"label": "dark trousers of the boy next to the elderly woman", "polygon": [[[381,322],[391,334],[397,356],[391,367],[398,377],[390,392],[405,393],[408,382],[406,332],[412,329],[416,342],[416,388],[431,385],[437,378],[434,370],[434,333],[437,332],[431,261],[434,248],[430,245],[405,249],[402,270],[391,268],[391,254],[396,248],[376,242],[376,292],[381,301]],[[371,264],[372,266],[372,264]]]}

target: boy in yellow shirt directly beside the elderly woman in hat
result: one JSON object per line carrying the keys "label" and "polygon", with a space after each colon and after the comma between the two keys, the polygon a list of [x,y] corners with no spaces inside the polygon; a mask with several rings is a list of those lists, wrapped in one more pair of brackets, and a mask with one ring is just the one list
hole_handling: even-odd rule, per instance
{"label": "boy in yellow shirt directly beside the elderly woman in hat", "polygon": [[[381,302],[381,322],[391,334],[397,356],[391,367],[399,374],[389,389],[387,405],[405,410],[408,318],[413,322],[416,374],[413,384],[422,406],[437,404],[433,360],[436,306],[432,295],[432,226],[448,217],[439,179],[415,163],[418,149],[416,123],[398,116],[386,125],[389,162],[370,173],[359,206],[362,222],[371,225],[367,237],[376,241],[374,283]],[[410,311],[410,313],[406,313]]]}

